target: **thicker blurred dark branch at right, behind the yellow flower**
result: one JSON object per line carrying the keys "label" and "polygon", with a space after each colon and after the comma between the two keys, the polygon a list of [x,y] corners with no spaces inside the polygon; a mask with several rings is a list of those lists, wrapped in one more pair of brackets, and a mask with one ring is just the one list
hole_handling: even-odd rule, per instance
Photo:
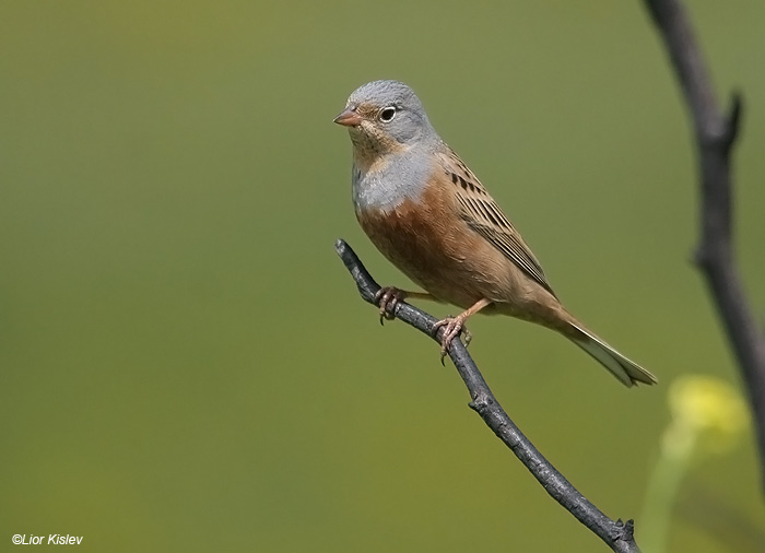
{"label": "thicker blurred dark branch at right, behind the yellow flower", "polygon": [[693,121],[702,196],[701,238],[695,260],[707,281],[746,385],[765,479],[765,334],[757,327],[743,291],[731,231],[730,157],[739,131],[741,97],[733,94],[726,116],[715,98],[681,0],[646,0],[646,7],[664,42]]}

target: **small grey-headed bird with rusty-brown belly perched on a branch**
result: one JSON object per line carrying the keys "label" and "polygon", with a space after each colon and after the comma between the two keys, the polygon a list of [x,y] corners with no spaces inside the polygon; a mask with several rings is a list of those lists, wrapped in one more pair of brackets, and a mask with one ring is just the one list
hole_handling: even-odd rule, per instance
{"label": "small grey-headed bird with rusty-brown belly perched on a branch", "polygon": [[442,363],[452,340],[472,336],[466,321],[501,314],[554,330],[622,384],[656,377],[628,360],[563,306],[516,227],[472,170],[438,136],[414,91],[393,80],[356,89],[334,120],[353,145],[356,219],[377,249],[425,292],[384,286],[380,322],[404,299],[432,299],[462,310],[435,323]]}

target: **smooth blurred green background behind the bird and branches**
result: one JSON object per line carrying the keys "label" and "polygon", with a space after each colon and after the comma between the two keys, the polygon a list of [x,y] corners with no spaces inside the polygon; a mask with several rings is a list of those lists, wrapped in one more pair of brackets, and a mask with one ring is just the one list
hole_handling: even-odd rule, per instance
{"label": "smooth blurred green background behind the bird and branches", "polygon": [[[720,96],[745,98],[737,248],[762,313],[765,4],[692,16]],[[0,51],[1,543],[605,550],[333,251],[408,284],[355,222],[331,122],[375,79],[415,89],[566,305],[658,375],[627,390],[542,328],[472,322],[498,399],[601,509],[639,517],[675,377],[739,386],[690,263],[694,154],[642,2],[7,0]],[[750,430],[680,496],[762,531],[757,467]],[[673,517],[670,550],[737,550]]]}

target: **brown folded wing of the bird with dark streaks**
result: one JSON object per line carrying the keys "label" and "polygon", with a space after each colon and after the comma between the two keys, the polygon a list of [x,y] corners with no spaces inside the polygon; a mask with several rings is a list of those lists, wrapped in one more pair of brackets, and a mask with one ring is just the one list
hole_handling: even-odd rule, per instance
{"label": "brown folded wing of the bird with dark streaks", "polygon": [[461,215],[468,225],[555,295],[539,261],[475,175],[448,146],[446,152],[438,155],[444,170],[457,189]]}

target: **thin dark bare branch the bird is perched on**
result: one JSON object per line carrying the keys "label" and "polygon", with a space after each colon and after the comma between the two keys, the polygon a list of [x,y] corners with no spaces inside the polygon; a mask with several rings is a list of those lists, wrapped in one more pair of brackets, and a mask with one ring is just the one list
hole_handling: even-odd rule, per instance
{"label": "thin dark bare branch the bird is perched on", "polygon": [[[364,268],[351,246],[343,240],[338,240],[334,249],[356,281],[362,298],[374,305],[375,294],[380,286]],[[436,319],[431,315],[404,302],[396,305],[393,315],[440,343],[444,329],[439,328],[438,333],[433,336],[433,325]],[[555,470],[507,416],[462,342],[455,340],[449,350],[449,357],[454,361],[457,372],[462,377],[472,398],[470,408],[481,415],[483,422],[513,450],[544,490],[613,551],[619,553],[639,552],[633,538],[633,521],[612,520],[585,498],[563,474]]]}

